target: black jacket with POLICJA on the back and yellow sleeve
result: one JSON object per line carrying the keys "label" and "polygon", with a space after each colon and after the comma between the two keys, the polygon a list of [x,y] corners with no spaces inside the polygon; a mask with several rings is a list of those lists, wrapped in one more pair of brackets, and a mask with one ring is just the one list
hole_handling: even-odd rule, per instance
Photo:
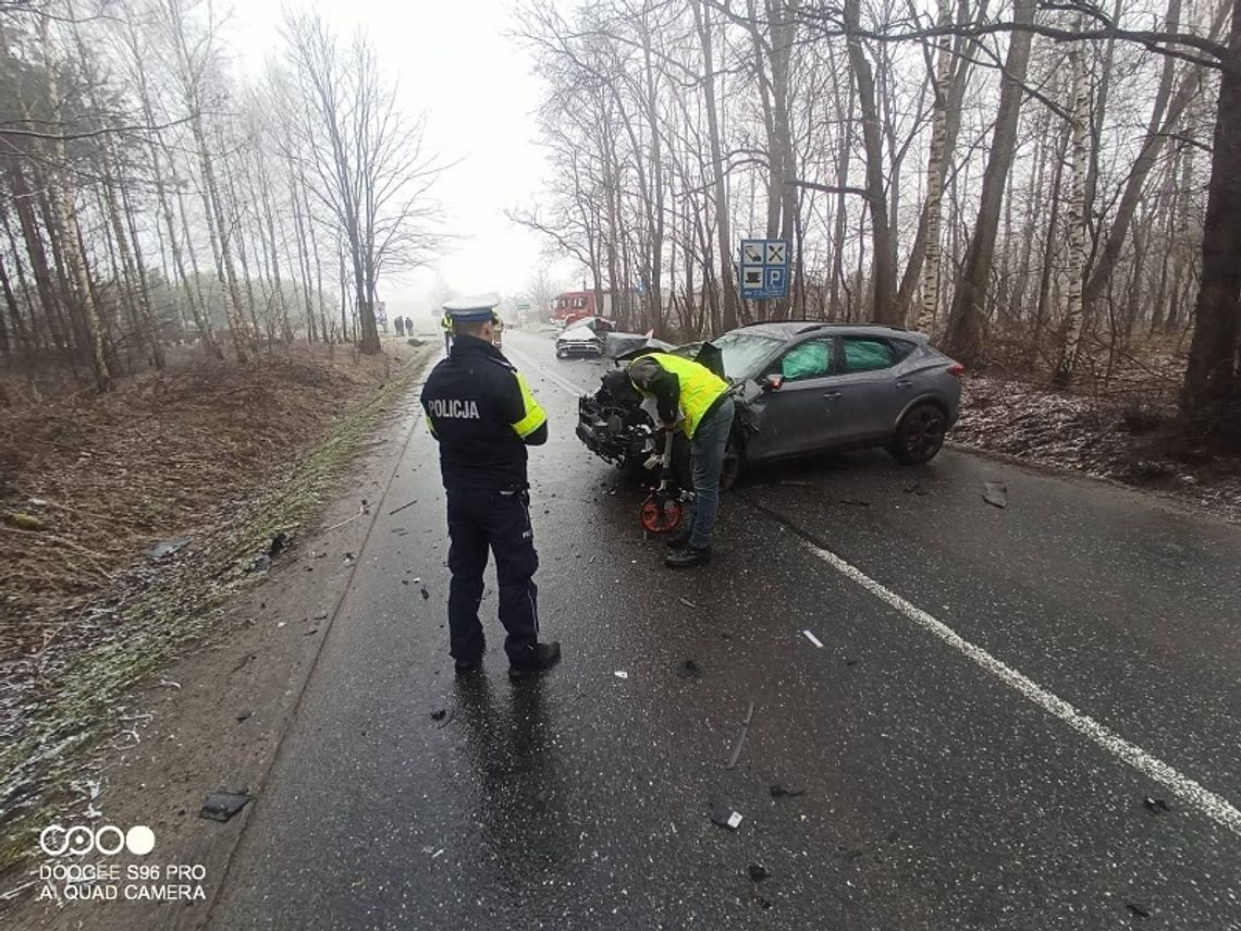
{"label": "black jacket with POLICJA on the back and yellow sleeve", "polygon": [[526,447],[547,442],[547,415],[499,349],[460,335],[431,370],[422,408],[449,490],[527,487]]}

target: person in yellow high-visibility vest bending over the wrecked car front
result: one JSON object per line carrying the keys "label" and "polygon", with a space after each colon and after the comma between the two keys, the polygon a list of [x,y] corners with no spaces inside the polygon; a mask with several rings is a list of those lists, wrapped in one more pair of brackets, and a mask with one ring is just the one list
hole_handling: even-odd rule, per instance
{"label": "person in yellow high-visibility vest bending over the wrecked car front", "polygon": [[720,513],[720,472],[732,432],[733,403],[728,382],[705,365],[668,353],[650,353],[629,362],[629,380],[644,397],[655,398],[660,426],[680,427],[690,439],[694,513],[689,530],[668,541],[664,565],[688,569],[711,559],[711,536]]}

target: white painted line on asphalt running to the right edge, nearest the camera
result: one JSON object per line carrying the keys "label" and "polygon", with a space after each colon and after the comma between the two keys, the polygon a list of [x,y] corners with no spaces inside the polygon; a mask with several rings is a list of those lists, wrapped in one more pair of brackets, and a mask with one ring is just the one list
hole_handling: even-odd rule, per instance
{"label": "white painted line on asphalt running to the right edge, nearest the camera", "polygon": [[885,588],[874,578],[867,576],[856,566],[845,562],[834,552],[824,550],[813,544],[805,544],[809,550],[840,575],[856,582],[880,601],[900,611],[918,627],[930,631],[944,643],[964,653],[983,669],[997,679],[1016,689],[1045,711],[1055,715],[1083,737],[1088,737],[1106,750],[1112,756],[1123,760],[1138,772],[1149,776],[1152,780],[1163,783],[1181,799],[1190,803],[1212,821],[1222,824],[1241,835],[1241,811],[1227,799],[1215,794],[1201,783],[1184,776],[1158,757],[1152,756],[1142,747],[1131,744],[1119,734],[1103,726],[1090,715],[1085,715],[1064,699],[1047,691],[1033,679],[1023,675],[1011,667],[1004,664],[982,647],[978,647],[958,634],[942,621],[937,621],[920,607],[911,605],[896,592]]}

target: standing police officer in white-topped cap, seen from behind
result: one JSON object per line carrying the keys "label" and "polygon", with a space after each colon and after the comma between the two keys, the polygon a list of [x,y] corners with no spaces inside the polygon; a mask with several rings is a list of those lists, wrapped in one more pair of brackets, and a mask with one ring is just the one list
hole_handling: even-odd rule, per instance
{"label": "standing police officer in white-topped cap, seen from behind", "polygon": [[560,643],[539,642],[539,567],[530,526],[526,447],[547,442],[547,416],[520,372],[491,344],[499,298],[444,304],[452,320],[452,351],[431,371],[422,406],[439,441],[448,493],[448,592],[450,653],[457,673],[483,657],[483,570],[495,554],[500,623],[508,632],[509,678],[524,679],[560,659]]}

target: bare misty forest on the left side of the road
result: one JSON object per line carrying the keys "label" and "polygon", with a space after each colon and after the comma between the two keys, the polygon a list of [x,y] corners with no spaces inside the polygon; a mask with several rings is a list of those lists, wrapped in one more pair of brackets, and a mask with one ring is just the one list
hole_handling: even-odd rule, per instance
{"label": "bare misty forest on the left side of the road", "polygon": [[[169,346],[377,351],[442,170],[365,34],[287,14],[247,73],[200,0],[0,0],[0,359],[107,391]],[[0,402],[5,398],[0,397]]]}

